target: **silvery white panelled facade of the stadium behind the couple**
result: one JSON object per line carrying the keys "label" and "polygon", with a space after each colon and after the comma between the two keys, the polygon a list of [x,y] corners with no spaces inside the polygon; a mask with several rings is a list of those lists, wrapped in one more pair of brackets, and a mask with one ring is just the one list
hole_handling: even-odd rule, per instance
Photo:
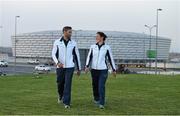
{"label": "silvery white panelled facade of the stadium behind the couple", "polygon": [[[95,44],[97,31],[73,30],[74,39],[80,51],[82,67],[85,65],[86,56],[91,44]],[[156,37],[141,33],[103,31],[108,36],[106,43],[111,46],[116,65],[119,64],[145,64],[155,58],[149,58],[147,52],[156,50]],[[53,42],[62,36],[62,32],[41,31],[33,33],[23,33],[16,36],[16,58],[26,62],[29,59],[38,59],[40,62],[51,61],[51,50]],[[13,55],[15,54],[15,36],[12,36]],[[158,62],[166,62],[169,56],[171,40],[169,38],[158,37],[157,40]]]}

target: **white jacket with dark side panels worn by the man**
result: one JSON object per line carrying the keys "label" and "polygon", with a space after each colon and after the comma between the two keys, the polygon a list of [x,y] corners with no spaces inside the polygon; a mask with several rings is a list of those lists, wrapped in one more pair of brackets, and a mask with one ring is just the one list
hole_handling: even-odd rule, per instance
{"label": "white jacket with dark side panels worn by the man", "polygon": [[72,68],[76,62],[78,70],[81,70],[79,50],[76,42],[72,39],[69,40],[67,46],[64,44],[63,37],[55,40],[52,49],[52,58],[56,64],[62,63],[63,68]]}

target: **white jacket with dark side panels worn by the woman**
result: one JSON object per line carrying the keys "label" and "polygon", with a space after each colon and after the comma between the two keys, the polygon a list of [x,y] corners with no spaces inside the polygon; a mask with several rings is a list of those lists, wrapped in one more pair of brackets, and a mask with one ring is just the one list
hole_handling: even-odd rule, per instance
{"label": "white jacket with dark side panels worn by the woman", "polygon": [[91,63],[92,69],[108,69],[107,59],[112,67],[112,70],[116,71],[110,46],[105,43],[100,48],[98,47],[98,44],[91,45],[86,59],[86,67],[89,67]]}

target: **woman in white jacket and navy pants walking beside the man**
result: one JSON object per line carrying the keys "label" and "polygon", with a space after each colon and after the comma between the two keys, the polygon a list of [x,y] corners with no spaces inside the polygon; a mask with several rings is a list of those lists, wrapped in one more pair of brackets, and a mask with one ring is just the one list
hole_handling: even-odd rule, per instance
{"label": "woman in white jacket and navy pants walking beside the man", "polygon": [[105,83],[108,77],[107,59],[111,65],[114,76],[116,76],[116,67],[110,46],[105,44],[107,36],[103,32],[96,33],[96,44],[91,45],[87,59],[85,72],[89,71],[91,63],[91,76],[94,102],[99,108],[104,109],[105,104]]}

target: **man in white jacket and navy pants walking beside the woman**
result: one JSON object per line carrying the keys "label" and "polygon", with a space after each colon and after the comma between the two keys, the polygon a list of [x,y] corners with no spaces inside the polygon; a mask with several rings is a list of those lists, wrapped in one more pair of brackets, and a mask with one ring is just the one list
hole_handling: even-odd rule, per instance
{"label": "man in white jacket and navy pants walking beside the woman", "polygon": [[56,64],[58,103],[63,103],[65,108],[70,108],[71,84],[74,72],[74,63],[77,64],[77,75],[80,75],[81,63],[77,44],[71,39],[72,28],[65,26],[63,36],[55,40],[52,58]]}

